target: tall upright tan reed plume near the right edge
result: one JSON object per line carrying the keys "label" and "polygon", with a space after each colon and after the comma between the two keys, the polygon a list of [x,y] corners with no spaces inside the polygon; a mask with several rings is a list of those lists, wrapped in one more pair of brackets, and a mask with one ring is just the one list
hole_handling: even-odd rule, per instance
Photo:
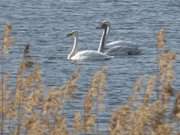
{"label": "tall upright tan reed plume near the right edge", "polygon": [[165,30],[161,29],[157,34],[157,48],[163,48],[163,51],[159,54],[159,80],[161,83],[161,100],[167,102],[169,96],[173,95],[172,81],[175,78],[173,70],[173,62],[176,59],[176,54],[165,50]]}

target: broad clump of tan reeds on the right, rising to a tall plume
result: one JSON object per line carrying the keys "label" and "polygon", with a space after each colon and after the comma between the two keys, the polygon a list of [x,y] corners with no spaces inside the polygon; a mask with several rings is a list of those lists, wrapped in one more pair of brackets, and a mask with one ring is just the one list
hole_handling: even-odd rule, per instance
{"label": "broad clump of tan reeds on the right, rising to a tall plume", "polygon": [[[175,134],[174,127],[167,119],[173,119],[174,114],[167,117],[170,97],[173,96],[172,82],[175,78],[173,64],[175,53],[166,49],[165,31],[157,34],[157,50],[159,73],[149,78],[140,78],[134,86],[134,94],[126,105],[121,106],[112,114],[110,123],[111,135],[171,135]],[[146,82],[146,88],[142,84]],[[142,94],[143,93],[143,94]],[[158,93],[154,100],[153,93]],[[140,95],[142,94],[142,95]],[[178,96],[175,114],[179,114]],[[177,133],[178,134],[178,133]]]}

